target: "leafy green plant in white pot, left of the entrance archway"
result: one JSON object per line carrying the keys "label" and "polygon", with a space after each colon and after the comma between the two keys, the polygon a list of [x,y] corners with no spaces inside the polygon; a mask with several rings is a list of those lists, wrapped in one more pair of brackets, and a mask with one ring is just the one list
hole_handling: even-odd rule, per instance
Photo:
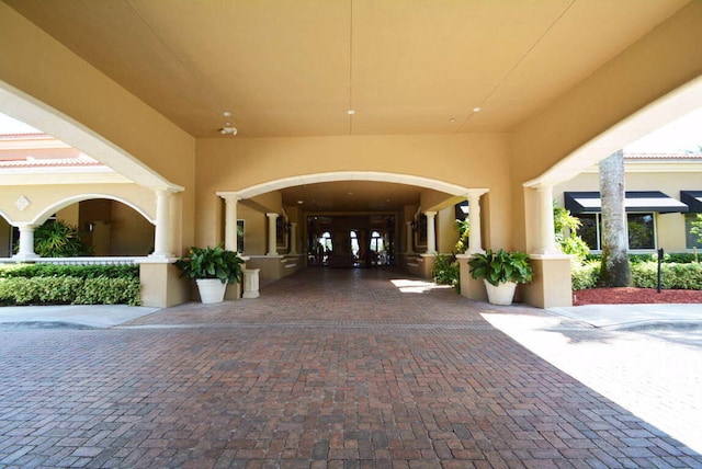
{"label": "leafy green plant in white pot, left of the entrance archway", "polygon": [[227,284],[241,282],[244,260],[234,251],[216,248],[190,248],[186,256],[176,261],[181,277],[194,278],[204,304],[222,302]]}

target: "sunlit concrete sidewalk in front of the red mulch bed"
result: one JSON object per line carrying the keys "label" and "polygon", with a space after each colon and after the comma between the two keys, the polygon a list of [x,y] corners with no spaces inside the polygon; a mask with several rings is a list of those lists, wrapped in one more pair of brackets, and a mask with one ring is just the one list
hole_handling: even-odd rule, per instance
{"label": "sunlit concrete sidewalk in front of the red mulch bed", "polygon": [[604,330],[700,328],[702,305],[587,305],[546,311]]}

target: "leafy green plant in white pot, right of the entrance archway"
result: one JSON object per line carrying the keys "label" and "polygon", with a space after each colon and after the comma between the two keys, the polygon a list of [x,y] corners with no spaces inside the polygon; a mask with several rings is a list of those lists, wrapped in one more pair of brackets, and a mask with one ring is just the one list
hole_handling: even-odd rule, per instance
{"label": "leafy green plant in white pot, right of the entrance archway", "polygon": [[468,261],[471,276],[483,278],[488,301],[492,305],[511,305],[517,284],[531,282],[534,273],[529,254],[500,249],[475,254]]}

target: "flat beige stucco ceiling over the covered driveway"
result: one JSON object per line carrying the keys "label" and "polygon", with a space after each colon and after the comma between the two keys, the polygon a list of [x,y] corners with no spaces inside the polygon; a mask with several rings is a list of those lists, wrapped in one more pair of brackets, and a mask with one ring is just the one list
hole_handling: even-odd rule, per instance
{"label": "flat beige stucco ceiling over the covered driveway", "polygon": [[689,0],[4,1],[193,136],[229,111],[247,138],[508,131]]}

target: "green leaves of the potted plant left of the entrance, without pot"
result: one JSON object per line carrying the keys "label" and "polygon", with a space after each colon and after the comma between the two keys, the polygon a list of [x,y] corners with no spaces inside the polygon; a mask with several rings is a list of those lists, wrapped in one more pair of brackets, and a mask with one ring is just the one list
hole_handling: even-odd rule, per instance
{"label": "green leaves of the potted plant left of the entrance, without pot", "polygon": [[176,261],[182,271],[181,276],[189,278],[218,278],[222,283],[241,282],[241,264],[238,253],[216,248],[190,248],[188,256]]}

